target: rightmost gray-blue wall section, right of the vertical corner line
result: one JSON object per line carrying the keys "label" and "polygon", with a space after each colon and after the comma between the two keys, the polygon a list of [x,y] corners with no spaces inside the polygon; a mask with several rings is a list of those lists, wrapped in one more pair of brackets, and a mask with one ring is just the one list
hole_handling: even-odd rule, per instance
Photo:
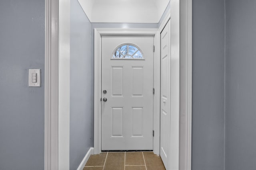
{"label": "rightmost gray-blue wall section, right of the vertical corner line", "polygon": [[226,0],[226,170],[256,169],[256,1]]}

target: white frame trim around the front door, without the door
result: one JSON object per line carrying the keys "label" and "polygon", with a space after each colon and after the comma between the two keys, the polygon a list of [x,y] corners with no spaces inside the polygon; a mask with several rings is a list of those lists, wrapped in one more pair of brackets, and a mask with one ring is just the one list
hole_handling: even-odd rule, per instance
{"label": "white frame trim around the front door, without the door", "polygon": [[[94,29],[94,154],[101,152],[101,37],[103,35],[130,35],[130,36],[154,36],[154,45],[156,50],[154,52],[154,119],[153,129],[155,136],[153,138],[153,150],[156,154],[159,154],[160,148],[160,83],[156,80],[160,77],[160,58],[158,58],[158,29],[114,29],[114,28],[95,28]],[[153,47],[152,47],[153,50]],[[158,61],[159,60],[159,61]],[[158,121],[159,120],[159,121]]]}

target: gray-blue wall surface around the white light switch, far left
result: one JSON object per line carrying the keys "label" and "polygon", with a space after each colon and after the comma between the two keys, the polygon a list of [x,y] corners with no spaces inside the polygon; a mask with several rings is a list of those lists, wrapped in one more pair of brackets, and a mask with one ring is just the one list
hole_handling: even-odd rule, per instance
{"label": "gray-blue wall surface around the white light switch, far left", "polygon": [[44,0],[0,1],[0,170],[44,169],[44,21]]}

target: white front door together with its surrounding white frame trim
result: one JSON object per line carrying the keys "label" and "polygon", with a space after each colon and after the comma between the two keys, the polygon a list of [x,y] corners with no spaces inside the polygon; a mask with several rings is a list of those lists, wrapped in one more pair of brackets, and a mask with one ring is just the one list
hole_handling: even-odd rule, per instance
{"label": "white front door together with its surrounding white frame trim", "polygon": [[158,29],[94,33],[94,154],[153,150],[159,155],[160,59],[154,51]]}

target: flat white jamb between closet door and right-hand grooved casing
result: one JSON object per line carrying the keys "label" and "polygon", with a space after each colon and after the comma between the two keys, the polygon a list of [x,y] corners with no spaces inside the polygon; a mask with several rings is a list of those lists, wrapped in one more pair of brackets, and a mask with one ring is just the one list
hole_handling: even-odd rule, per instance
{"label": "flat white jamb between closet door and right-hand grooved casing", "polygon": [[170,143],[169,170],[179,170],[180,161],[180,0],[171,0],[170,19]]}

